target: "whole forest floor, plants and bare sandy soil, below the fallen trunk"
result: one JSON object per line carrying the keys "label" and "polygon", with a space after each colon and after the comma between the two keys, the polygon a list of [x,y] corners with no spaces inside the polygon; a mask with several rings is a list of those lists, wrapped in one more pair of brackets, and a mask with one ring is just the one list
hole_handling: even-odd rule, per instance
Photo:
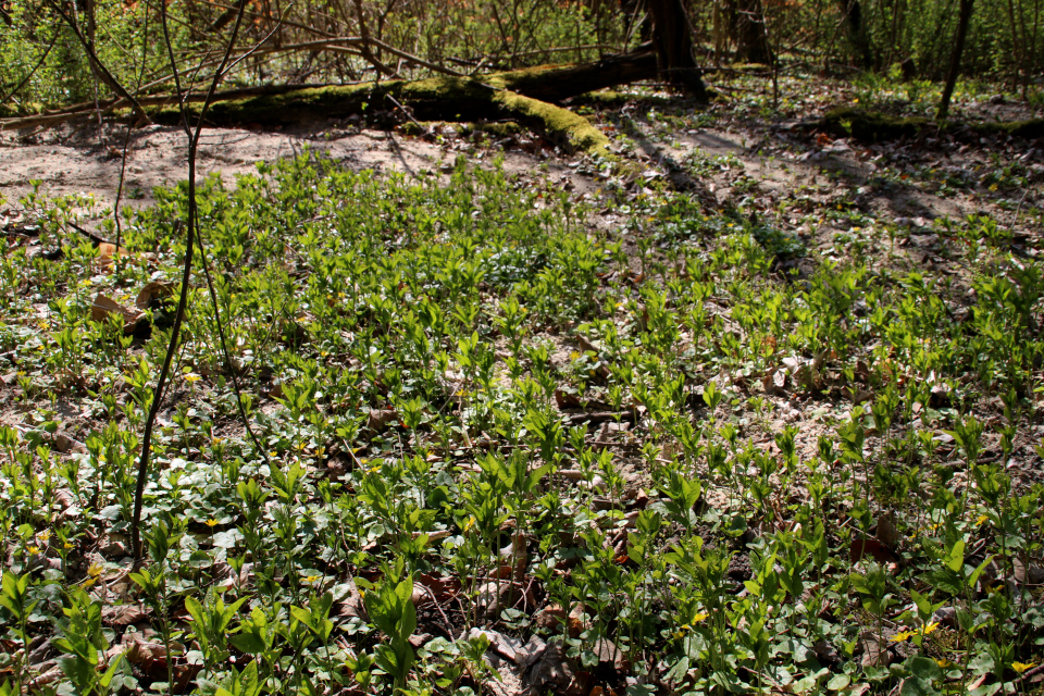
{"label": "whole forest floor, plants and bare sandy soil, below the fallen trunk", "polygon": [[[229,651],[273,693],[372,691],[380,646],[444,693],[1040,691],[1044,141],[816,127],[930,109],[909,86],[722,87],[575,100],[630,169],[458,124],[204,130],[225,319],[197,274],[147,502],[170,596],[128,580],[127,513],[184,134],[133,134],[115,263],[64,221],[115,238],[123,132],[7,136],[7,573],[63,587],[29,591],[54,616],[107,602],[148,693],[167,666],[232,684]],[[400,580],[401,639],[373,621]],[[212,589],[260,612],[238,635],[282,633],[206,637]],[[0,674],[75,681],[52,638],[78,624],[41,611],[4,617]]]}

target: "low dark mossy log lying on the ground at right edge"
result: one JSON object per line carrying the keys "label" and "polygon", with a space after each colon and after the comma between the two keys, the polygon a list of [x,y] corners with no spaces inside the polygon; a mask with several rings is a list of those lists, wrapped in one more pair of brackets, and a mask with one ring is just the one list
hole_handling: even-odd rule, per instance
{"label": "low dark mossy log lying on the ground at right edge", "polygon": [[834,109],[828,112],[823,115],[820,127],[831,135],[850,137],[865,142],[916,138],[940,133],[974,137],[997,135],[1020,138],[1044,137],[1044,119],[983,123],[939,122],[922,116],[891,116],[853,108]]}

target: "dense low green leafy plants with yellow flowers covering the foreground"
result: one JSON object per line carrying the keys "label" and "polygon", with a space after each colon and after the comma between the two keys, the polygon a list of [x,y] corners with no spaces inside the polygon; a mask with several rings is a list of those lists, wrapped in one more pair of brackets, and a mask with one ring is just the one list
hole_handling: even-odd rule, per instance
{"label": "dense low green leafy plants with yellow flowers covering the foreground", "polygon": [[176,277],[185,194],[2,243],[4,693],[1035,688],[1044,277],[989,221],[962,287],[463,162],[208,179],[134,568],[170,306],[91,309]]}

